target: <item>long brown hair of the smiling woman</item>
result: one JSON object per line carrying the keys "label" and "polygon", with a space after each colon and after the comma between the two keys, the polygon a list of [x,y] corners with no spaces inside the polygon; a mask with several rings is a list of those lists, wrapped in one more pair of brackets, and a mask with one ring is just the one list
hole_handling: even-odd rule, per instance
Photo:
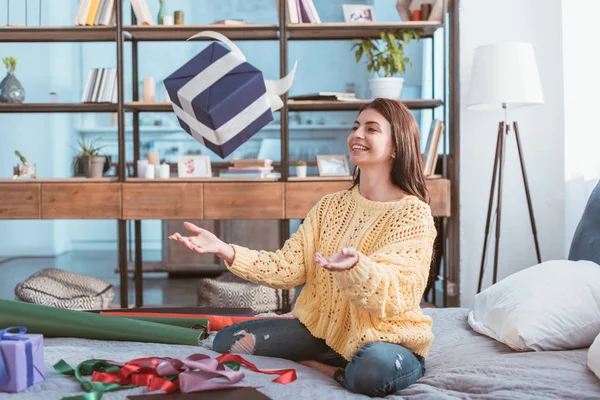
{"label": "long brown hair of the smiling woman", "polygon": [[[423,173],[419,126],[415,117],[402,102],[377,98],[363,106],[364,110],[373,109],[383,115],[392,127],[392,143],[396,157],[392,164],[392,183],[404,192],[429,203],[429,192]],[[360,182],[360,169],[354,167],[354,185]]]}

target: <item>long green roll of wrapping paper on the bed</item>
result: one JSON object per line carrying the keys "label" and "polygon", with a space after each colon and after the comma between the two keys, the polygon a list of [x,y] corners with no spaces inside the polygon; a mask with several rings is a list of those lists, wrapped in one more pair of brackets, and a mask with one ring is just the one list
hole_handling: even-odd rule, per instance
{"label": "long green roll of wrapping paper on the bed", "polygon": [[112,318],[11,300],[0,300],[0,326],[25,326],[28,333],[46,337],[76,337],[196,346],[204,335],[178,326]]}

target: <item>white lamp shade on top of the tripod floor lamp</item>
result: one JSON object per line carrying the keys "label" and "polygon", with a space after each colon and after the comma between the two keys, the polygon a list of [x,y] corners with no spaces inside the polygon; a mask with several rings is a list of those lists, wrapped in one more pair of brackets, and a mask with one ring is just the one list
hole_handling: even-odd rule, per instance
{"label": "white lamp shade on top of the tripod floor lamp", "polygon": [[505,42],[475,49],[468,108],[492,110],[543,103],[533,45]]}

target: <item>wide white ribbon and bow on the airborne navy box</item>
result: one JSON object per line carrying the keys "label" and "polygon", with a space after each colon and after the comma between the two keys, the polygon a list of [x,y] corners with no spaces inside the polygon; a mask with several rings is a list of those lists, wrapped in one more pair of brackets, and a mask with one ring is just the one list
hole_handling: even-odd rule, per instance
{"label": "wide white ribbon and bow on the airborne navy box", "polygon": [[188,40],[198,37],[209,37],[223,42],[229,47],[231,52],[209,65],[205,70],[196,75],[177,91],[177,98],[179,99],[181,108],[174,102],[171,102],[171,104],[177,117],[189,126],[190,133],[198,142],[205,144],[204,139],[206,138],[211,143],[220,146],[241,132],[248,124],[260,117],[267,109],[271,108],[271,111],[276,111],[283,107],[283,101],[279,96],[287,92],[292,86],[294,75],[296,74],[297,63],[294,64],[292,71],[284,78],[279,80],[265,79],[265,94],[256,99],[227,123],[217,129],[212,129],[198,121],[192,107],[192,101],[198,94],[211,87],[215,82],[226,76],[237,66],[245,63],[246,56],[244,56],[244,53],[242,53],[239,47],[221,33],[203,31],[195,34]]}

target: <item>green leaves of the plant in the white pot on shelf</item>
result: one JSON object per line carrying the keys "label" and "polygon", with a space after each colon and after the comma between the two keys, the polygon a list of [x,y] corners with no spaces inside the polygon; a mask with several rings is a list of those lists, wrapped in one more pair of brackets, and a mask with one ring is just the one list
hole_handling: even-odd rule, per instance
{"label": "green leaves of the plant in the white pot on shelf", "polygon": [[412,60],[404,53],[404,45],[412,40],[421,38],[422,30],[385,30],[380,39],[363,39],[354,44],[356,62],[363,56],[367,59],[367,70],[380,77],[394,76],[406,71],[406,66],[412,67]]}

